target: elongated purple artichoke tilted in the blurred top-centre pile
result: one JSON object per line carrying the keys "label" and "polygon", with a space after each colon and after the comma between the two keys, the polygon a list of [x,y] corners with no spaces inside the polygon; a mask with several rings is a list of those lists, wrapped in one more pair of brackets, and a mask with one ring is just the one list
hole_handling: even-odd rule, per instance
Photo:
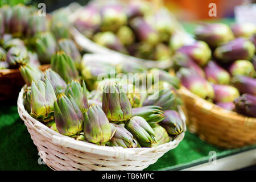
{"label": "elongated purple artichoke tilted in the blurred top-centre pile", "polygon": [[146,22],[143,18],[134,18],[130,22],[135,35],[141,42],[146,42],[151,46],[155,46],[159,42],[158,32]]}

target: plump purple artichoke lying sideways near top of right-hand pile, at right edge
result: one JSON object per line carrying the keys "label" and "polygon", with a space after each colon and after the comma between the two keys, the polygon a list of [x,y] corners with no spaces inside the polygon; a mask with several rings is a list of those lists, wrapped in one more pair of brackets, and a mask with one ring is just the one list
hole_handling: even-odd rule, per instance
{"label": "plump purple artichoke lying sideways near top of right-hand pile, at right edge", "polygon": [[236,38],[217,47],[214,51],[214,56],[221,63],[230,63],[236,60],[251,60],[254,52],[255,47],[253,43],[245,38]]}

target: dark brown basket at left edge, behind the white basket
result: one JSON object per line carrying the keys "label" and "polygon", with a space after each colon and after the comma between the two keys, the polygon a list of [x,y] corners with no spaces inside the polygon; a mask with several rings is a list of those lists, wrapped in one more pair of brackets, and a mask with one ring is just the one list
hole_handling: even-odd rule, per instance
{"label": "dark brown basket at left edge, behind the white basket", "polygon": [[[44,71],[50,66],[50,64],[40,65],[39,69]],[[19,69],[0,69],[0,101],[18,98],[24,84]]]}

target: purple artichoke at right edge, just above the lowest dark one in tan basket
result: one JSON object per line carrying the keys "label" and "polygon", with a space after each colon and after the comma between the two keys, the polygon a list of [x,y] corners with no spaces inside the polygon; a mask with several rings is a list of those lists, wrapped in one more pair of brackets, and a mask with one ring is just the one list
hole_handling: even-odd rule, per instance
{"label": "purple artichoke at right edge, just above the lowest dark one in tan basket", "polygon": [[237,75],[231,79],[231,83],[241,94],[249,93],[256,96],[256,79],[248,76]]}

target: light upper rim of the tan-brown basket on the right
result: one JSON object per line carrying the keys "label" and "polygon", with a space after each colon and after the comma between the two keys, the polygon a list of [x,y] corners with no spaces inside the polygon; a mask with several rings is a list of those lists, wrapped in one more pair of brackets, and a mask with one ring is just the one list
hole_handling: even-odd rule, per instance
{"label": "light upper rim of the tan-brown basket on the right", "polygon": [[235,111],[226,110],[216,104],[213,104],[212,102],[209,102],[209,101],[204,100],[203,98],[197,96],[196,94],[192,93],[190,90],[185,88],[185,86],[181,86],[181,88],[178,90],[178,92],[181,94],[185,94],[186,96],[191,97],[194,100],[199,101],[200,104],[197,104],[197,106],[202,109],[204,109],[205,106],[208,106],[211,109],[211,111],[214,112],[214,114],[221,115],[221,117],[225,117],[225,118],[232,117],[232,119],[236,118],[237,120],[240,120],[240,121],[250,121],[250,122],[256,123],[256,118],[247,117],[245,115],[236,113]]}

